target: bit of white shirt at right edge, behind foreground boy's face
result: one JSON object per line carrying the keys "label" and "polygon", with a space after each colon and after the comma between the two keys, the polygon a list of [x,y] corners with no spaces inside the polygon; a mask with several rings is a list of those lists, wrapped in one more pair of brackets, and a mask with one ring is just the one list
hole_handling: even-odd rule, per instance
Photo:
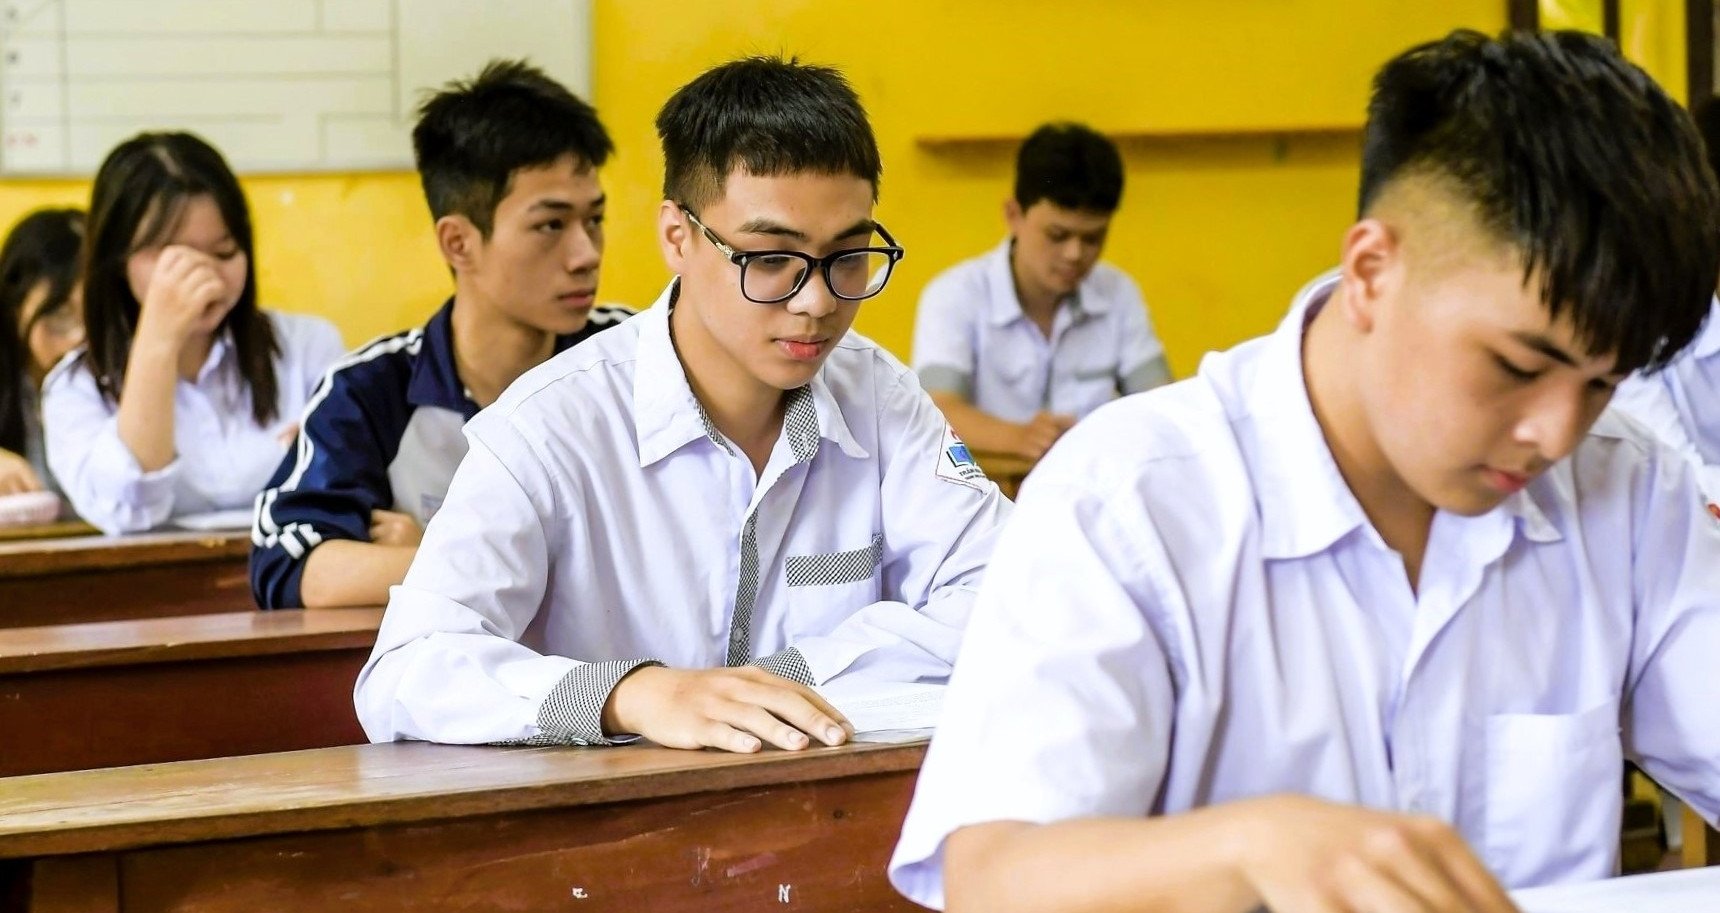
{"label": "bit of white shirt at right edge, behind foreground boy's face", "polygon": [[1720,500],[1720,297],[1696,342],[1665,370],[1631,375],[1613,407],[1694,461],[1708,499]]}

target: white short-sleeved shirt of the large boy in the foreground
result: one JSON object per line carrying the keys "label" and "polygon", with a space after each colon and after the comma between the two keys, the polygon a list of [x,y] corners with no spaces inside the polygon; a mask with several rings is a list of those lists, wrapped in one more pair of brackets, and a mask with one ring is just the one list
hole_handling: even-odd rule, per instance
{"label": "white short-sleeved shirt of the large boy in the foreground", "polygon": [[[1316,289],[1330,294],[1330,285]],[[1624,758],[1720,817],[1720,524],[1606,416],[1498,509],[1434,516],[1419,591],[1350,493],[1302,322],[1128,397],[998,542],[891,879],[953,830],[1304,793],[1452,822],[1508,887],[1601,879]]]}

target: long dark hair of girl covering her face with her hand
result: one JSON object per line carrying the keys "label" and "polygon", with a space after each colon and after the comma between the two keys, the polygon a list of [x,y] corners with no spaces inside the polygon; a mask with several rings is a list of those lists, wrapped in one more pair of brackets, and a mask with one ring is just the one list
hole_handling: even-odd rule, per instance
{"label": "long dark hair of girl covering her face with her hand", "polygon": [[227,160],[189,132],[138,134],[115,146],[96,172],[84,244],[84,365],[103,399],[117,402],[141,308],[126,263],[131,254],[172,239],[186,205],[200,196],[215,203],[227,234],[244,254],[244,291],[215,334],[230,334],[239,377],[251,395],[251,418],[268,425],[279,411],[275,356],[280,344],[268,315],[256,306],[251,208]]}

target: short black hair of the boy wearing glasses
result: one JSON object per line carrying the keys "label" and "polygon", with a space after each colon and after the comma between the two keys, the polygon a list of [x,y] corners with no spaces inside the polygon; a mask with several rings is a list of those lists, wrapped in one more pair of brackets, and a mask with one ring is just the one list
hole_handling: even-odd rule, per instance
{"label": "short black hair of the boy wearing glasses", "polygon": [[705,70],[657,112],[662,194],[695,210],[746,174],[851,174],[872,184],[884,167],[872,124],[841,70],[798,58],[746,57]]}

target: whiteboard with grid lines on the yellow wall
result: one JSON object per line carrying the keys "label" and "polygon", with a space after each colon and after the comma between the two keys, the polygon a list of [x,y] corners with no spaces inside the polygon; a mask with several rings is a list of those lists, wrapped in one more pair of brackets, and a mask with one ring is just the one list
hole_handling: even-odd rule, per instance
{"label": "whiteboard with grid lines on the yellow wall", "polygon": [[590,36],[590,0],[0,0],[0,174],[167,129],[243,172],[411,169],[428,89],[526,57],[588,100]]}

